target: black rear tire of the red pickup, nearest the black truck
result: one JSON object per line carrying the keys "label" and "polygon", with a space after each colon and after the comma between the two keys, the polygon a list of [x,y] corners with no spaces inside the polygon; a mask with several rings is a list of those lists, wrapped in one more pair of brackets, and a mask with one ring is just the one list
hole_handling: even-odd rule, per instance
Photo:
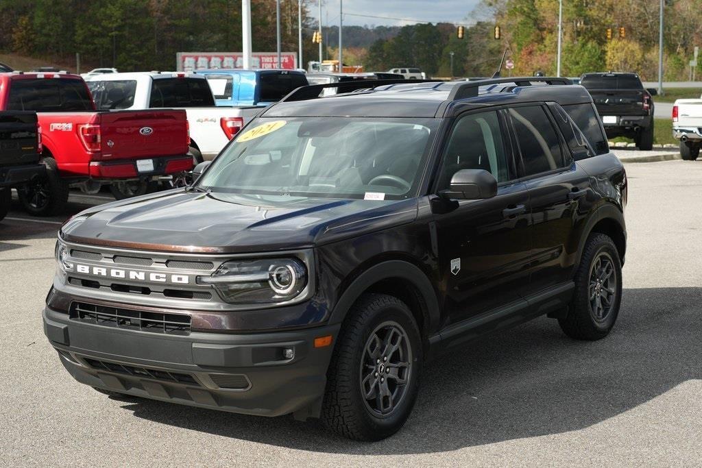
{"label": "black rear tire of the red pickup, nearest the black truck", "polygon": [[68,203],[68,184],[60,177],[55,159],[45,157],[41,162],[46,166],[46,178],[29,182],[17,193],[30,215],[58,215],[65,211]]}

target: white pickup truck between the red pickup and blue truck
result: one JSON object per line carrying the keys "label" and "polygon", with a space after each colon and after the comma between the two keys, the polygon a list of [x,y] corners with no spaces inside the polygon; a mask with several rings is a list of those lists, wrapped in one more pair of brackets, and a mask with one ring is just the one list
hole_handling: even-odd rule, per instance
{"label": "white pickup truck between the red pickup and blue truck", "polygon": [[214,159],[229,140],[263,110],[217,107],[204,75],[186,72],[109,73],[86,78],[95,105],[107,109],[185,109],[195,163]]}

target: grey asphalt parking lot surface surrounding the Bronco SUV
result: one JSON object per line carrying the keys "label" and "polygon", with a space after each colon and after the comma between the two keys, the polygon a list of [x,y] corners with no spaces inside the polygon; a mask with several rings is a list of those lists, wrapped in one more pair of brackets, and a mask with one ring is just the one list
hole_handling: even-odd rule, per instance
{"label": "grey asphalt parking lot surface surrounding the Bronco SUV", "polygon": [[626,167],[625,290],[611,335],[575,342],[543,318],[440,356],[404,429],[378,443],[74,382],[41,330],[61,220],[15,210],[0,222],[0,464],[700,464],[702,161]]}

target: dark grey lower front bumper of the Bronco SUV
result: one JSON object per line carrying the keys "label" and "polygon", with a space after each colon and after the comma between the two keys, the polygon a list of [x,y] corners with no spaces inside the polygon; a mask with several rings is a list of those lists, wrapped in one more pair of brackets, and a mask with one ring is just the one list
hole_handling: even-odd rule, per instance
{"label": "dark grey lower front bumper of the Bronco SUV", "polygon": [[[81,323],[44,309],[44,333],[81,383],[201,408],[319,415],[339,326],[274,333],[166,335]],[[283,350],[293,349],[292,359]]]}

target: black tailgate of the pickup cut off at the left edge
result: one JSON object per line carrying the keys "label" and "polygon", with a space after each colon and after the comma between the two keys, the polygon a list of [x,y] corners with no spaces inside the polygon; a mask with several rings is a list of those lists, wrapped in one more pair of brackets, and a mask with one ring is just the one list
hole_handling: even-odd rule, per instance
{"label": "black tailgate of the pickup cut off at the left edge", "polygon": [[0,112],[0,166],[38,161],[37,113]]}

